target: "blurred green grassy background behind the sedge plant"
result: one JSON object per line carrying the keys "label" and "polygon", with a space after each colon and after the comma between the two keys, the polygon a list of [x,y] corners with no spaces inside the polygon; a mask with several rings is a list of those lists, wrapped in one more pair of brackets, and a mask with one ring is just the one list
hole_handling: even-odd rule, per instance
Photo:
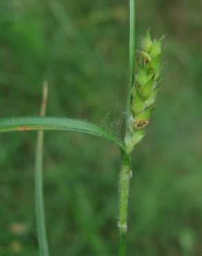
{"label": "blurred green grassy background behind the sedge plant", "polygon": [[[128,256],[202,255],[201,0],[137,0],[137,45],[148,27],[165,39],[163,90],[133,154]],[[128,80],[129,1],[1,0],[1,117],[39,113],[120,131]],[[0,255],[38,255],[35,132],[0,136]],[[45,133],[50,255],[118,250],[115,146],[81,134]]]}

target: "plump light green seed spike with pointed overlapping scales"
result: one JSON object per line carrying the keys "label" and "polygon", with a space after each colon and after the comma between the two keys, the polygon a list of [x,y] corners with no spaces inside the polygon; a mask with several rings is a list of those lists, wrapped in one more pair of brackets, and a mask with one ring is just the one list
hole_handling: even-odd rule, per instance
{"label": "plump light green seed spike with pointed overlapping scales", "polygon": [[156,96],[160,89],[160,71],[163,67],[160,62],[162,40],[163,37],[152,40],[147,30],[142,39],[141,50],[138,51],[125,137],[127,154],[130,154],[134,146],[145,136],[145,127],[149,125],[150,116],[155,107]]}

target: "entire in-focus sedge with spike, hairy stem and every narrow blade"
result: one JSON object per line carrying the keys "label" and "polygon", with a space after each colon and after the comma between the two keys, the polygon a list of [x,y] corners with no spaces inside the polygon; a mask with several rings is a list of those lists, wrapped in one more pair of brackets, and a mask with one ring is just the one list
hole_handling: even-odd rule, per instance
{"label": "entire in-focus sedge with spike, hairy stem and every narrow blade", "polygon": [[145,129],[149,125],[156,97],[160,89],[160,71],[162,64],[162,38],[152,40],[149,30],[142,39],[140,51],[136,53],[135,46],[135,0],[130,0],[129,19],[129,86],[127,91],[125,135],[120,138],[106,128],[91,122],[72,118],[46,117],[47,86],[44,85],[41,116],[0,118],[0,132],[38,130],[35,165],[35,205],[37,217],[37,237],[39,255],[49,256],[48,239],[44,214],[43,195],[43,137],[44,130],[74,131],[104,138],[117,145],[121,155],[121,169],[119,181],[119,214],[118,228],[120,232],[119,256],[126,255],[127,244],[127,212],[129,202],[129,181],[131,179],[131,153],[145,136]]}

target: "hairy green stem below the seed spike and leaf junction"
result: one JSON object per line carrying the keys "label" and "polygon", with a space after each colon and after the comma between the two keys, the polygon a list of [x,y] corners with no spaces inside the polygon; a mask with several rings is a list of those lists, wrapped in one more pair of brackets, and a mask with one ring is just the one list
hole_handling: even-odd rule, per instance
{"label": "hairy green stem below the seed spike and leaf junction", "polygon": [[122,152],[122,166],[120,171],[120,201],[119,221],[120,230],[119,256],[125,256],[126,234],[127,234],[127,209],[129,198],[129,181],[131,179],[131,159],[125,152]]}

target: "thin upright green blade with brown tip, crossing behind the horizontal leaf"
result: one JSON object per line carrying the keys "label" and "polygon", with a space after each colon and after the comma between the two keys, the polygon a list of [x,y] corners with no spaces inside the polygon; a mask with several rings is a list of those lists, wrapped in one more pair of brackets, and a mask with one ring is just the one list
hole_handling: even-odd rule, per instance
{"label": "thin upright green blade with brown tip, crossing behind the horizontal leaf", "polygon": [[[44,82],[41,116],[45,116],[48,86]],[[48,240],[46,237],[46,221],[44,213],[44,188],[43,188],[43,148],[44,131],[37,133],[37,146],[35,156],[35,207],[37,219],[37,238],[39,243],[39,255],[48,256]]]}

